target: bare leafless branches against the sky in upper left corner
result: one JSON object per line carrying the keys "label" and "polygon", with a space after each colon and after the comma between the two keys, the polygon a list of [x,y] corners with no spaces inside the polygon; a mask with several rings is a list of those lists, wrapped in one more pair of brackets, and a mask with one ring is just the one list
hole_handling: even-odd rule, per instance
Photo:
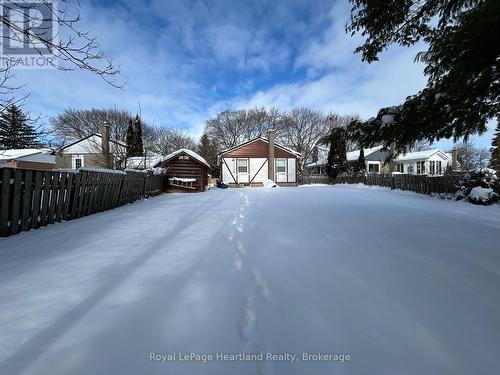
{"label": "bare leafless branches against the sky in upper left corner", "polygon": [[[21,44],[58,70],[87,70],[112,86],[122,87],[124,83],[117,81],[119,68],[105,56],[96,38],[78,27],[79,6],[78,0],[2,1],[0,44],[4,52],[14,51],[11,44]],[[14,101],[13,91],[19,88],[9,85],[13,63],[6,55],[0,68],[0,109]]]}

